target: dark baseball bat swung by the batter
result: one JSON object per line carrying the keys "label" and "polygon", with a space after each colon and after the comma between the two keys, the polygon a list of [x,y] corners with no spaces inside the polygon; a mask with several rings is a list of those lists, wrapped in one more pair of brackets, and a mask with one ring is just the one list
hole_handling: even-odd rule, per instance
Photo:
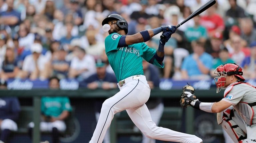
{"label": "dark baseball bat swung by the batter", "polygon": [[[205,3],[203,6],[201,6],[198,10],[196,10],[195,12],[193,12],[189,17],[187,17],[185,20],[183,20],[181,23],[179,23],[178,25],[176,25],[176,28],[180,27],[181,25],[183,25],[184,23],[186,23],[187,21],[189,21],[190,19],[194,18],[195,16],[199,15],[200,13],[204,12],[205,10],[207,10],[209,7],[213,6],[216,3],[216,0],[209,0],[207,3]],[[164,38],[164,36],[160,36],[161,39]]]}

